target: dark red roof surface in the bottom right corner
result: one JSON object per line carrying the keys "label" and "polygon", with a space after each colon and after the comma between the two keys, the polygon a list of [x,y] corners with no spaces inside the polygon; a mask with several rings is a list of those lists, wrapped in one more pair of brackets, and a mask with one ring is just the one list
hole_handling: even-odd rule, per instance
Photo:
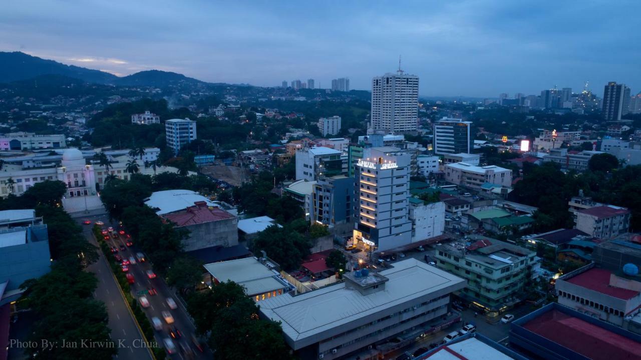
{"label": "dark red roof surface in the bottom right corner", "polygon": [[558,310],[548,311],[523,327],[588,359],[641,359],[641,343]]}

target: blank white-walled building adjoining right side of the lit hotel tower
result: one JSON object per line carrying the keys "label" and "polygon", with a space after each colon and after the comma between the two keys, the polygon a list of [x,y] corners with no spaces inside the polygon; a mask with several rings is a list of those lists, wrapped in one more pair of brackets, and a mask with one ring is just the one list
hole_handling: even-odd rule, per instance
{"label": "blank white-walled building adjoining right side of the lit hotel tower", "polygon": [[412,222],[412,242],[433,238],[445,231],[445,203],[426,203],[410,197],[409,218]]}

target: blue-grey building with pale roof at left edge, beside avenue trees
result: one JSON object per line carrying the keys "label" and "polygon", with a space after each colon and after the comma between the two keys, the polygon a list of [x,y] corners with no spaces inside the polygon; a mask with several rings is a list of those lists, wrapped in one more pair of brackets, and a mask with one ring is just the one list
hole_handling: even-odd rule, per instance
{"label": "blue-grey building with pale roof at left edge, beside avenue trees", "polygon": [[33,209],[0,211],[0,305],[22,295],[20,286],[49,272],[49,234]]}

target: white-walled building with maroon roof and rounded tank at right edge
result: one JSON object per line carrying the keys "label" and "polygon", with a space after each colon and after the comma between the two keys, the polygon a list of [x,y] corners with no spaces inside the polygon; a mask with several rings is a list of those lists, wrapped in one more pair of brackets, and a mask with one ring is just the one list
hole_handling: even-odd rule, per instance
{"label": "white-walled building with maroon roof and rounded tank at right edge", "polygon": [[641,314],[641,282],[594,264],[559,277],[554,288],[559,304],[625,329]]}

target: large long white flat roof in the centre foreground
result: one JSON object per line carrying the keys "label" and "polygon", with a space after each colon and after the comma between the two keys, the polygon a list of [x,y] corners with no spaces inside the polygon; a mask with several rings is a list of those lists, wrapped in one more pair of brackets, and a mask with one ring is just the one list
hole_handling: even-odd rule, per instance
{"label": "large long white flat roof in the centre foreground", "polygon": [[[438,290],[454,291],[465,286],[465,280],[429,266],[416,259],[406,259],[379,273],[389,279],[385,289],[362,295],[345,288],[345,282],[309,291],[296,297],[283,295],[261,302],[260,311],[281,322],[286,336],[296,342],[295,350],[318,341],[318,334],[340,325],[417,299]],[[326,336],[328,334],[324,334]]]}

